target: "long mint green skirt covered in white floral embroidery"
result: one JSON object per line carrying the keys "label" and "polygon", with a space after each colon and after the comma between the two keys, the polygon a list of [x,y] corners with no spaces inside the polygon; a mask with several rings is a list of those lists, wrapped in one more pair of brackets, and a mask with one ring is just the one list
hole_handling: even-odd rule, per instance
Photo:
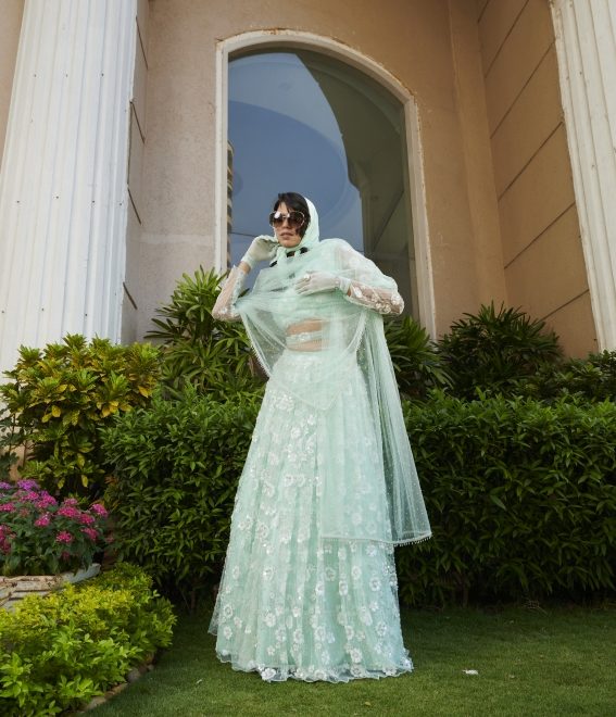
{"label": "long mint green skirt covered in white floral embroidery", "polygon": [[305,381],[305,364],[316,360],[285,356],[277,366],[285,380],[267,386],[238,486],[210,625],[216,653],[268,681],[347,682],[408,672],[393,548],[322,533],[328,461],[341,485],[357,485],[360,476],[363,488],[353,490],[350,519],[382,519],[369,489],[378,465],[370,463],[376,436],[362,375],[356,368],[332,405],[316,408],[285,389],[289,380]]}

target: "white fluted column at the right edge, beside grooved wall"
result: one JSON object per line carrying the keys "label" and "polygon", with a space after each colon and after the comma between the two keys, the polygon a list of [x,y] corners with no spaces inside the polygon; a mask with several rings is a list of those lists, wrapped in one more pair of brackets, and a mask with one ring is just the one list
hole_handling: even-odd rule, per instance
{"label": "white fluted column at the right edge, beside grooved wall", "polygon": [[552,15],[596,335],[616,349],[616,2],[552,0]]}

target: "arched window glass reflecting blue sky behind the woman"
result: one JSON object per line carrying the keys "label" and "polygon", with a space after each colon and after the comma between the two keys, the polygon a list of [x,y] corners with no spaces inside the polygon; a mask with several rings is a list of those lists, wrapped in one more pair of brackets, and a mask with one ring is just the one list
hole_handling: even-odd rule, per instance
{"label": "arched window glass reflecting blue sky behind the woman", "polygon": [[278,191],[319,211],[323,238],[372,259],[418,316],[404,108],[372,77],[311,50],[250,51],[228,64],[229,247],[237,263],[271,234]]}

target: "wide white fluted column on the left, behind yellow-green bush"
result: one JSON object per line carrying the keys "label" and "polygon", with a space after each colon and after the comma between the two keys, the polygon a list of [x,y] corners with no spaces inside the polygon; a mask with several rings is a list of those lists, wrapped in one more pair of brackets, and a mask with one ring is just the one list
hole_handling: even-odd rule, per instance
{"label": "wide white fluted column on the left, behind yellow-green bush", "polygon": [[0,176],[0,369],[120,337],[136,0],[26,0]]}

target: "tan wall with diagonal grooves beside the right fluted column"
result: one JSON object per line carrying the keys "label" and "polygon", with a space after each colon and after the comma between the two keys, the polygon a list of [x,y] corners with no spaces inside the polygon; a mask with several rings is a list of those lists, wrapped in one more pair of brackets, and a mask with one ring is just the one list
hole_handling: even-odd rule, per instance
{"label": "tan wall with diagonal grooves beside the right fluted column", "polygon": [[549,0],[477,0],[507,297],[596,348]]}

